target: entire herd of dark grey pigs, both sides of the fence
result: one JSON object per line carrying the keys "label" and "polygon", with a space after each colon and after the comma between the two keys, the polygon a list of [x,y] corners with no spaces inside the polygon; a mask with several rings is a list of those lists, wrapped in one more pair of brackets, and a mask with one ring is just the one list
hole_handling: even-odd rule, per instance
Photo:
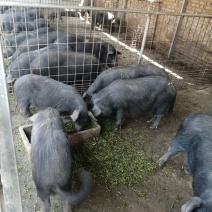
{"label": "entire herd of dark grey pigs, both sides of the fence", "polygon": [[[125,111],[152,111],[149,122],[150,128],[155,129],[167,110],[173,113],[176,88],[164,69],[154,65],[116,66],[117,51],[111,44],[55,31],[41,24],[46,21],[41,21],[43,16],[35,9],[28,8],[23,13],[21,9],[7,8],[1,13],[2,30],[17,33],[15,39],[14,35],[4,39],[4,44],[11,46],[5,48],[5,56],[12,56],[6,74],[8,80],[15,81],[14,93],[21,115],[33,123],[32,176],[43,211],[50,211],[50,195],[54,193],[61,197],[63,211],[71,211],[71,206],[90,192],[92,177],[80,169],[81,188],[74,194],[70,192],[72,155],[60,113],[69,113],[74,129],[80,131],[91,118],[100,115],[115,113],[118,130],[123,125]],[[13,24],[8,22],[11,14],[17,17]],[[26,17],[30,20],[28,25]],[[36,29],[31,24],[35,18],[36,27],[40,26]],[[109,69],[104,70],[105,66]],[[71,83],[63,83],[67,72],[73,74],[68,81],[93,79],[83,95]],[[30,106],[39,112],[32,115]],[[210,148],[212,117],[192,113],[184,118],[168,151],[159,160],[159,166],[163,166],[177,152],[187,155],[186,168],[193,178],[194,195],[182,206],[182,212],[212,211]]]}

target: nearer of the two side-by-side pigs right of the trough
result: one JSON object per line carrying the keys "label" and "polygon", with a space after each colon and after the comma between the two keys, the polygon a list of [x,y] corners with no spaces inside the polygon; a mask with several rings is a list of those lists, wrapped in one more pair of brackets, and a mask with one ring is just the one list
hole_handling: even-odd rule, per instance
{"label": "nearer of the two side-by-side pigs right of the trough", "polygon": [[124,112],[153,111],[153,124],[157,128],[167,108],[172,114],[176,98],[174,85],[165,77],[148,76],[129,80],[116,80],[94,94],[91,99],[94,116],[116,113],[116,128],[121,128]]}

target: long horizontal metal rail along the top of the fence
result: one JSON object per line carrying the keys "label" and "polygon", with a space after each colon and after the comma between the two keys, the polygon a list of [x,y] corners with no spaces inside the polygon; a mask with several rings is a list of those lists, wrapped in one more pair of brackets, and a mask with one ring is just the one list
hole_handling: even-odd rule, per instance
{"label": "long horizontal metal rail along the top of the fence", "polygon": [[[0,6],[17,6],[17,2],[8,2],[8,1],[1,1]],[[83,10],[102,10],[102,11],[108,11],[108,12],[127,12],[127,13],[142,13],[142,14],[155,14],[155,15],[172,15],[172,16],[187,16],[187,17],[204,17],[204,18],[212,18],[212,15],[209,14],[187,14],[187,13],[171,13],[171,12],[155,12],[155,11],[146,11],[146,10],[130,10],[130,9],[113,9],[113,8],[104,8],[104,7],[88,7],[88,6],[76,6],[76,5],[70,5],[70,4],[63,4],[63,5],[57,5],[57,4],[40,4],[40,3],[21,3],[18,2],[19,7],[38,7],[38,8],[56,8],[58,9],[83,9]]]}

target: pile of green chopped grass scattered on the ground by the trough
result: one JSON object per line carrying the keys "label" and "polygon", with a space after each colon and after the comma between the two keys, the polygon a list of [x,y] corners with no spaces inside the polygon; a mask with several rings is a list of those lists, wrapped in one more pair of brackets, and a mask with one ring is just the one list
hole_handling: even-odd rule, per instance
{"label": "pile of green chopped grass scattered on the ground by the trough", "polygon": [[104,119],[99,124],[102,127],[100,136],[74,148],[75,167],[84,167],[95,182],[109,189],[142,184],[156,170],[156,162],[143,153],[143,132],[114,131],[115,122],[111,119]]}

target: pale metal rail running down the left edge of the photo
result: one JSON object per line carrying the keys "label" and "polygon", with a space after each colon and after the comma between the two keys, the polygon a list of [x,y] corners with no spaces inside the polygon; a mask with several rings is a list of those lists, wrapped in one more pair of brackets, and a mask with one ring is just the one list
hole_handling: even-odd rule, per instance
{"label": "pale metal rail running down the left edge of the photo", "polygon": [[13,142],[10,105],[5,79],[4,61],[0,42],[0,145],[1,145],[1,181],[5,209],[7,212],[22,212],[20,185]]}

